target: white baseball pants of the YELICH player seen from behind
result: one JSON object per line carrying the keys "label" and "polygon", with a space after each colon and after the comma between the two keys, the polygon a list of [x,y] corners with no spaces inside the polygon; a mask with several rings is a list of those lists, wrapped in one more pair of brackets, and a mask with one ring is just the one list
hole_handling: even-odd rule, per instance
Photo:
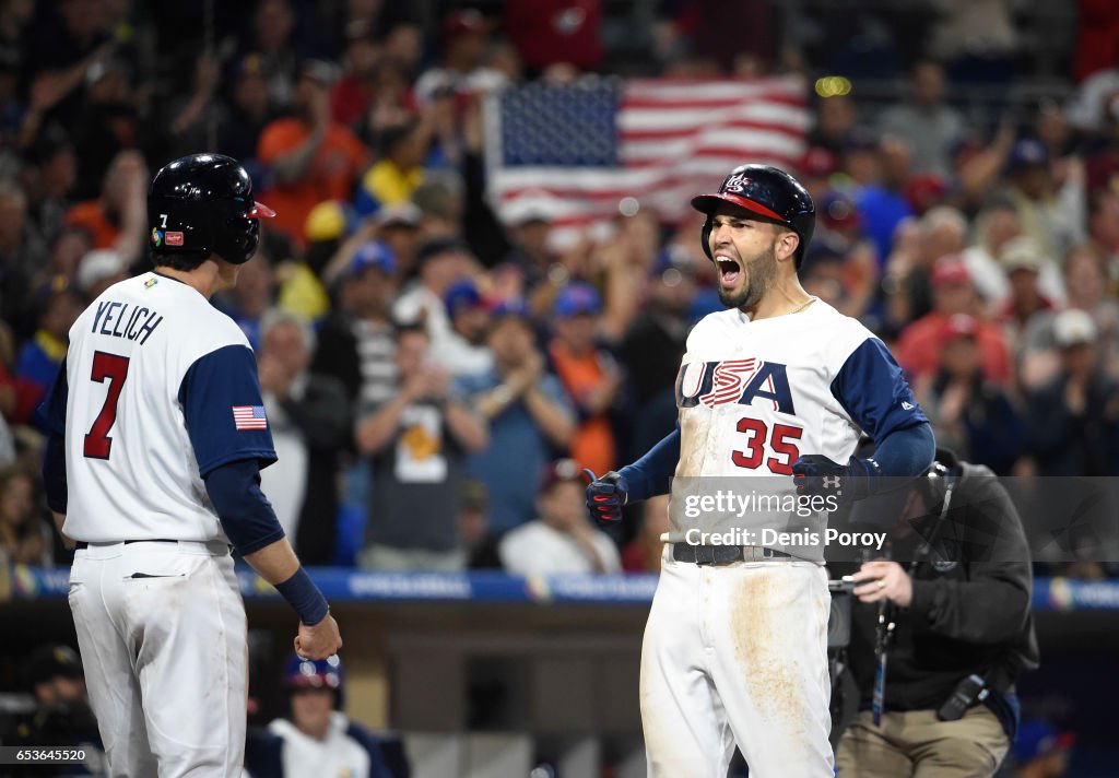
{"label": "white baseball pants of the YELICH player seen from behind", "polygon": [[110,776],[242,775],[247,643],[228,546],[91,543],[69,604]]}

